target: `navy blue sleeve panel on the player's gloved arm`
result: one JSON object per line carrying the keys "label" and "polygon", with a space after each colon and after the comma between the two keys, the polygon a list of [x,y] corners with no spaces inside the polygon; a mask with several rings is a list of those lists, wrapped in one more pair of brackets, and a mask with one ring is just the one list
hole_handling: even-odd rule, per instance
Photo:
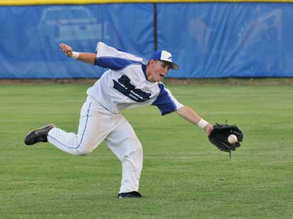
{"label": "navy blue sleeve panel on the player's gloved arm", "polygon": [[173,102],[168,92],[164,89],[163,84],[159,83],[159,88],[160,93],[152,105],[157,106],[160,109],[162,116],[174,112],[176,110],[176,104]]}

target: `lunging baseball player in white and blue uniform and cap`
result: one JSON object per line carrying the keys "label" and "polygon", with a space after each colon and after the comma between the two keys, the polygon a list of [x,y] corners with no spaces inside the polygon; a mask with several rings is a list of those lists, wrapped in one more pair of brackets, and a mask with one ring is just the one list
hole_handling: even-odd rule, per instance
{"label": "lunging baseball player in white and blue uniform and cap", "polygon": [[207,135],[213,129],[193,109],[176,100],[161,81],[169,69],[178,69],[172,54],[156,51],[146,61],[134,54],[122,52],[98,42],[96,53],[73,52],[69,45],[59,47],[67,57],[109,69],[87,90],[86,102],[81,108],[77,134],[68,133],[50,124],[30,131],[26,145],[49,141],[72,155],[91,153],[102,141],[122,162],[122,181],[118,198],[140,198],[139,177],[142,172],[142,143],[132,126],[120,114],[132,107],[154,105],[161,115],[176,112],[181,117],[204,129]]}

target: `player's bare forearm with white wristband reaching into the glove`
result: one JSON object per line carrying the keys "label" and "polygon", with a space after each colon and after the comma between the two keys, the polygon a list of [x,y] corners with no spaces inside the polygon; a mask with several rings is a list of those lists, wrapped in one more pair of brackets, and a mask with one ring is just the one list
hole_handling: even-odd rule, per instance
{"label": "player's bare forearm with white wristband reaching into the glove", "polygon": [[176,112],[178,115],[180,115],[180,117],[183,117],[189,122],[197,124],[197,126],[205,129],[207,135],[209,135],[212,132],[212,129],[214,129],[214,126],[212,124],[205,122],[205,120],[203,120],[196,112],[193,111],[193,109],[188,106],[181,107],[177,109]]}

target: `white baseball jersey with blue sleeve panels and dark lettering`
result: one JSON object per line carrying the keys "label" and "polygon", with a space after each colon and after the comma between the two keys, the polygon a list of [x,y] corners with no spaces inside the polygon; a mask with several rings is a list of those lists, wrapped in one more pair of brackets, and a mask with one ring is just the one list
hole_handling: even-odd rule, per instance
{"label": "white baseball jersey with blue sleeve panels and dark lettering", "polygon": [[183,107],[163,83],[146,79],[147,61],[141,57],[98,42],[95,64],[109,70],[88,88],[87,94],[113,114],[154,105],[164,115]]}

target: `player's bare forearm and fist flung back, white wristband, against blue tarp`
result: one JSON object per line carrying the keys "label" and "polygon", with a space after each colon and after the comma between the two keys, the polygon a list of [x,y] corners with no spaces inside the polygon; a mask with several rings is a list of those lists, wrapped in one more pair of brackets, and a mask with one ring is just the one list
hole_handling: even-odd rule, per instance
{"label": "player's bare forearm and fist flung back, white wristband, against blue tarp", "polygon": [[67,57],[70,57],[72,59],[77,59],[79,61],[84,61],[89,64],[95,64],[96,61],[96,54],[91,52],[74,52],[72,50],[72,47],[69,45],[64,44],[63,42],[59,45],[62,52]]}

